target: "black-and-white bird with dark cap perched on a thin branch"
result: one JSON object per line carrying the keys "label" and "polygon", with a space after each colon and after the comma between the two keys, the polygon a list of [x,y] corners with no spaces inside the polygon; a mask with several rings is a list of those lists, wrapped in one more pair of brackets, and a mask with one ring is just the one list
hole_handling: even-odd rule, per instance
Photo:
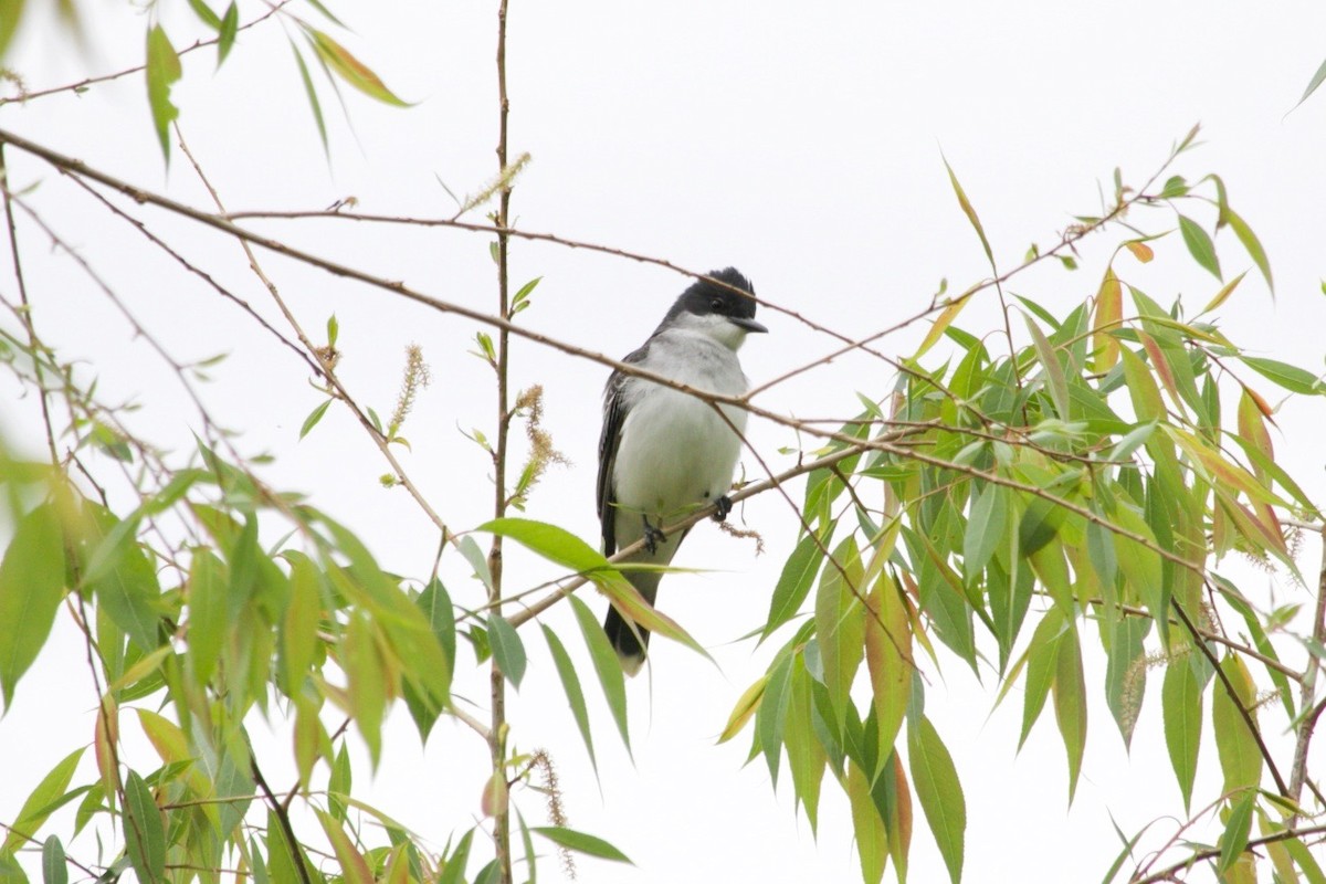
{"label": "black-and-white bird with dark cap perched on a thin branch", "polygon": [[[720,285],[721,284],[721,285]],[[693,390],[741,396],[751,382],[737,350],[754,321],[754,286],[735,268],[711,270],[672,304],[654,334],[622,359],[629,366],[670,378]],[[720,414],[721,412],[721,414]],[[643,539],[629,561],[666,566],[690,531],[663,535],[662,526],[699,508],[715,505],[723,521],[732,509],[728,492],[741,453],[747,412],[731,404],[717,410],[674,387],[613,371],[603,390],[603,432],[598,444],[598,517],[603,554]],[[658,598],[660,571],[627,570],[644,600]],[[644,664],[650,634],[609,607],[603,622],[622,671],[634,676]]]}

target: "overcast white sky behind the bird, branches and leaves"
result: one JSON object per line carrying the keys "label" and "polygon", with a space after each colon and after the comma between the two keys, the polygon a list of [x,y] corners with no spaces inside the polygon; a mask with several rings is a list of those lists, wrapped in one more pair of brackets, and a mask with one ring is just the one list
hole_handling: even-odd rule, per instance
{"label": "overcast white sky behind the bird, branches and leaves", "polygon": [[[200,36],[186,4],[166,5],[162,15],[176,46]],[[255,5],[241,9],[245,21],[256,15]],[[389,109],[347,94],[351,134],[324,90],[329,171],[289,49],[280,27],[269,23],[241,34],[215,76],[210,50],[186,58],[175,91],[186,138],[235,211],[317,209],[354,196],[366,212],[450,215],[452,203],[435,175],[468,192],[495,171],[495,4],[342,0],[333,9],[355,29],[345,44],[416,107]],[[98,5],[97,13],[82,54],[49,28],[20,34],[11,64],[29,87],[118,70],[139,58],[143,17],[118,4]],[[509,21],[512,152],[533,155],[513,199],[521,228],[639,250],[691,269],[735,264],[766,301],[849,334],[873,331],[923,307],[941,277],[961,290],[987,274],[940,151],[1008,268],[1030,243],[1053,244],[1073,213],[1097,211],[1098,183],[1109,190],[1115,166],[1127,183],[1140,184],[1171,143],[1200,121],[1205,146],[1176,171],[1189,180],[1205,172],[1224,178],[1232,204],[1265,244],[1277,282],[1272,301],[1256,272],[1249,274],[1223,327],[1257,353],[1322,370],[1326,93],[1286,115],[1326,57],[1326,8],[1319,4],[513,0]],[[81,97],[5,106],[0,127],[207,205],[179,151],[163,175],[139,77]],[[33,205],[178,359],[231,354],[203,395],[221,424],[243,431],[243,451],[276,453],[276,465],[264,472],[272,482],[308,492],[362,531],[385,566],[427,574],[435,549],[431,526],[403,492],[378,486],[386,465],[349,414],[333,408],[310,437],[296,443],[304,416],[320,402],[300,362],[48,167],[13,148],[7,156],[13,186],[40,184]],[[154,209],[141,215],[274,317],[233,243]],[[1208,225],[1212,220],[1209,213],[1197,217]],[[1159,229],[1166,221],[1158,215],[1138,223]],[[476,309],[495,304],[481,235],[345,221],[255,227],[444,300]],[[1062,313],[1095,289],[1107,249],[1119,239],[1085,244],[1078,273],[1038,270],[1010,288]],[[134,417],[142,432],[186,451],[198,415],[171,372],[30,225],[24,241],[34,315],[48,342],[66,359],[85,359],[86,376],[99,378],[105,399],[143,403]],[[1229,232],[1220,235],[1217,248],[1227,278],[1250,266]],[[1176,235],[1158,243],[1156,252],[1146,268],[1122,257],[1120,276],[1166,305],[1181,292],[1193,311],[1219,288]],[[465,355],[477,326],[260,257],[313,337],[337,313],[345,351],[339,374],[379,414],[391,410],[402,349],[423,345],[435,383],[407,424],[414,451],[403,455],[406,468],[448,524],[483,521],[491,501],[488,468],[457,432],[488,428],[493,412],[487,368]],[[684,286],[659,268],[524,243],[513,247],[513,276],[517,284],[544,277],[522,322],[613,357],[640,343]],[[12,282],[0,282],[0,290],[13,297]],[[743,350],[756,383],[834,349],[792,319],[772,311],[760,318],[770,334]],[[959,325],[984,331],[993,322],[989,305],[976,304]],[[883,349],[911,353],[923,333],[908,329]],[[517,387],[545,386],[546,428],[574,461],[548,476],[529,516],[593,542],[598,398],[606,372],[529,345],[520,345],[513,371]],[[855,391],[878,398],[890,384],[878,362],[843,359],[772,390],[761,404],[800,416],[846,415],[855,408]],[[19,392],[12,380],[0,380],[5,435],[36,445],[33,400],[20,400]],[[752,424],[761,455],[776,468],[788,465],[776,451],[796,443],[789,431]],[[1321,500],[1326,421],[1319,404],[1296,408],[1280,424],[1282,461]],[[745,464],[757,474],[753,459]],[[585,860],[583,881],[839,881],[859,875],[846,801],[835,787],[825,785],[815,842],[804,818],[793,815],[790,781],[776,798],[762,762],[741,767],[747,736],[713,746],[736,697],[777,647],[752,655],[749,644],[729,643],[762,622],[794,541],[796,524],[773,496],[737,516],[764,535],[768,553],[754,558],[749,542],[701,526],[676,563],[712,571],[667,578],[660,598],[670,615],[712,648],[721,668],[656,643],[652,676],[630,685],[634,765],[614,741],[569,611],[546,618],[585,664],[601,786],[542,640],[525,631],[533,665],[512,702],[513,738],[521,747],[553,753],[570,824],[611,840],[636,863],[622,868]],[[1317,555],[1315,549],[1305,553],[1305,573],[1315,573]],[[511,558],[513,590],[549,577],[532,558],[516,551]],[[477,598],[459,557],[444,559],[443,574],[459,600]],[[1262,598],[1270,591],[1303,598],[1286,580],[1245,579],[1245,590]],[[15,815],[40,771],[91,736],[93,694],[81,649],[69,630],[57,636],[0,721],[0,819]],[[461,661],[465,653],[463,645]],[[989,714],[997,685],[992,673],[980,685],[947,657],[941,673],[928,675],[927,710],[955,754],[967,794],[968,880],[1099,880],[1118,850],[1110,814],[1131,835],[1152,818],[1181,812],[1158,685],[1131,758],[1105,704],[1094,702],[1082,782],[1066,811],[1063,750],[1049,712],[1014,755],[1020,689]],[[1103,667],[1089,661],[1094,700],[1102,677]],[[481,696],[477,683],[460,680],[457,689]],[[62,702],[46,701],[50,694]],[[419,751],[402,714],[392,720],[389,746],[373,785],[381,806],[438,846],[471,823],[485,750],[468,730],[443,721]],[[1326,755],[1318,755],[1321,767]],[[151,769],[149,757],[141,758]],[[280,770],[278,761],[267,763]],[[80,777],[91,775],[90,758],[86,767]],[[357,783],[367,781],[363,770]],[[290,779],[288,771],[268,775]],[[1217,793],[1208,733],[1196,803]],[[542,822],[537,797],[522,798],[521,807],[530,823]],[[944,880],[919,806],[916,814],[911,877]],[[1158,823],[1159,840],[1174,824]],[[556,880],[554,867],[546,863],[546,880]]]}

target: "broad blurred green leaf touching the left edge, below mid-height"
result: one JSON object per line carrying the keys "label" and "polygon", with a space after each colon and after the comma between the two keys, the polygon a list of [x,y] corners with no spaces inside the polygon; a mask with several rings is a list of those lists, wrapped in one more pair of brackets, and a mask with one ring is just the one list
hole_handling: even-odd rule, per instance
{"label": "broad blurred green leaf touching the left edge, below mid-height", "polygon": [[56,505],[24,516],[0,561],[0,692],[13,689],[46,643],[64,596],[65,543]]}

